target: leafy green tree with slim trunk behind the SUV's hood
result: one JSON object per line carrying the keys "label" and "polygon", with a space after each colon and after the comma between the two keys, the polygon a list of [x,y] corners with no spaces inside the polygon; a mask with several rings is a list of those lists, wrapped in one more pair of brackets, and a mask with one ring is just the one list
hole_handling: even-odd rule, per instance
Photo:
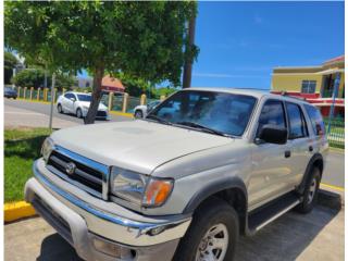
{"label": "leafy green tree with slim trunk behind the SUV's hood", "polygon": [[94,76],[85,123],[94,123],[105,73],[124,72],[151,84],[181,85],[186,24],[196,2],[5,2],[5,46],[40,57],[50,70],[87,69]]}

